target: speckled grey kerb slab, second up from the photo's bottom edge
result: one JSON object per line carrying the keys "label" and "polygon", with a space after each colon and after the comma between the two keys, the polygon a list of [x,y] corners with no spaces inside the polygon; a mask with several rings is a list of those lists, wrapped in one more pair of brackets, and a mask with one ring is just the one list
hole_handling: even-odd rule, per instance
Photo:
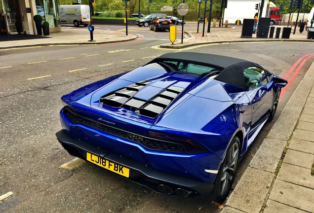
{"label": "speckled grey kerb slab, second up from the photo's bottom edge", "polygon": [[266,138],[249,164],[252,168],[275,172],[287,141]]}

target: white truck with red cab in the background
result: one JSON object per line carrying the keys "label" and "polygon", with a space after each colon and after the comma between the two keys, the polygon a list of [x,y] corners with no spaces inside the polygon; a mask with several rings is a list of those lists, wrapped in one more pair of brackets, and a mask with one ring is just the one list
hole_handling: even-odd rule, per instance
{"label": "white truck with red cab in the background", "polygon": [[[272,1],[265,0],[261,17],[270,17],[271,25],[273,25],[278,23],[278,20],[275,20],[275,18],[272,17],[273,14],[277,14],[277,12],[272,14],[269,9],[269,13],[266,15],[268,2],[269,7],[276,6]],[[243,19],[254,19],[255,13],[259,12],[259,10],[255,9],[256,4],[258,5],[260,3],[261,0],[228,0],[227,8],[225,8],[224,12],[224,21],[228,20],[228,23],[242,24]]]}

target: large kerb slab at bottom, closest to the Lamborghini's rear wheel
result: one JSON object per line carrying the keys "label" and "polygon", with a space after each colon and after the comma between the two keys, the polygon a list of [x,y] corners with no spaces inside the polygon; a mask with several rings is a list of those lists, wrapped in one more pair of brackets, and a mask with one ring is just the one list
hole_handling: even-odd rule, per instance
{"label": "large kerb slab at bottom, closest to the Lamborghini's rear wheel", "polygon": [[274,173],[248,167],[226,205],[247,213],[259,213],[274,178]]}

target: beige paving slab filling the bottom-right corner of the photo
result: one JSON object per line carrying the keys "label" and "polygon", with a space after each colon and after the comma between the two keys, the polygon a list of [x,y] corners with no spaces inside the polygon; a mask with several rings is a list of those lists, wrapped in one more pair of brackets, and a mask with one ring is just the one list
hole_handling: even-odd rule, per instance
{"label": "beige paving slab filling the bottom-right corner of the photo", "polygon": [[313,189],[276,179],[269,199],[314,213],[313,195]]}

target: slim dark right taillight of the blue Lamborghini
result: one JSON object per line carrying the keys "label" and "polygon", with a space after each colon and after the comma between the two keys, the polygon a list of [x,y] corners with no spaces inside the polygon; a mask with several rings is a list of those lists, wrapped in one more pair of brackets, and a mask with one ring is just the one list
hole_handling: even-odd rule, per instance
{"label": "slim dark right taillight of the blue Lamborghini", "polygon": [[157,138],[162,141],[179,143],[184,146],[185,151],[189,154],[206,152],[206,150],[202,146],[200,146],[199,144],[197,144],[191,139],[170,136],[170,135],[165,135],[165,134],[160,134],[160,133],[155,133],[155,132],[148,132],[147,135],[149,137]]}

